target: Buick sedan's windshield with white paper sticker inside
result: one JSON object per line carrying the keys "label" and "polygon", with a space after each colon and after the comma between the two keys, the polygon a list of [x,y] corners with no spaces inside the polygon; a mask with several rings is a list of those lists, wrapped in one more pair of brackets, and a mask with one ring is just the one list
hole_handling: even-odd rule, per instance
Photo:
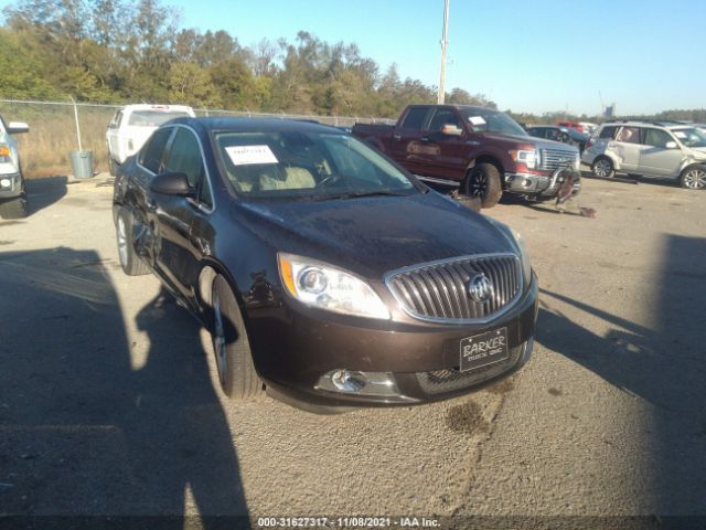
{"label": "Buick sedan's windshield with white paper sticker inside", "polygon": [[216,132],[236,193],[248,198],[332,199],[410,194],[411,181],[375,150],[335,132]]}

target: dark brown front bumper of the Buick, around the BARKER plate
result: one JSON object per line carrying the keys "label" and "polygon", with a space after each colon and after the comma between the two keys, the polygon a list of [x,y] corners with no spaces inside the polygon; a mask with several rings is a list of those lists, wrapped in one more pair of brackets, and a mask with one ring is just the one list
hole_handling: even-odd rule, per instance
{"label": "dark brown front bumper of the Buick, around the BARKER plate", "polygon": [[[533,275],[515,306],[483,325],[356,319],[288,300],[279,310],[248,310],[248,335],[260,378],[292,404],[411,405],[468,393],[522,367],[532,352],[537,299]],[[507,330],[509,358],[458,371],[461,339],[500,328]],[[322,389],[321,377],[336,370],[389,373],[395,395]]]}

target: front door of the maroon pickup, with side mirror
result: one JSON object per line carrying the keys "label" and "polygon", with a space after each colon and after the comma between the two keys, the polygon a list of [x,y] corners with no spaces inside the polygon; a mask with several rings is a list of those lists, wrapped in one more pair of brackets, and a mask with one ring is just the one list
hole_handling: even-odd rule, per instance
{"label": "front door of the maroon pickup, with side mirror", "polygon": [[[443,128],[456,128],[460,135],[443,132]],[[437,107],[417,146],[417,157],[421,174],[445,180],[460,181],[466,176],[468,166],[463,156],[466,146],[466,129],[461,118],[452,107]]]}

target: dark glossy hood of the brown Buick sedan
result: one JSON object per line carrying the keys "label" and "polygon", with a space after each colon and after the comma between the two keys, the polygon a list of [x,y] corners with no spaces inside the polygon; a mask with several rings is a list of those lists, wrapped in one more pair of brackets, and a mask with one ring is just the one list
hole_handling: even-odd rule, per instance
{"label": "dark glossy hood of the brown Buick sedan", "polygon": [[367,278],[454,256],[513,252],[495,225],[435,191],[287,203],[239,203],[238,222],[279,252],[346,268]]}

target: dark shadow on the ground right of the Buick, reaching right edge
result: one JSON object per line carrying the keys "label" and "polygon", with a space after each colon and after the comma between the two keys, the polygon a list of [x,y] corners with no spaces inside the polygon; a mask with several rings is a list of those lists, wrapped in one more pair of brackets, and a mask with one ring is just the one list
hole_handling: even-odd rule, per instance
{"label": "dark shadow on the ground right of the Buick, reaching right edge", "polygon": [[[649,327],[543,290],[537,341],[648,402],[645,426],[655,513],[706,513],[706,239],[666,235],[651,290]],[[557,301],[609,325],[603,336],[557,309]]]}

